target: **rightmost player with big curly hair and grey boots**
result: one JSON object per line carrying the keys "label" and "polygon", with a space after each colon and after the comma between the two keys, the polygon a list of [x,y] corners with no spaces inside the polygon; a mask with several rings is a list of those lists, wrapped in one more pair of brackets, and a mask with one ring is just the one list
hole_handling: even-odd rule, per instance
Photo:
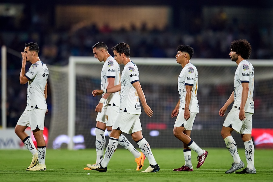
{"label": "rightmost player with big curly hair and grey boots", "polygon": [[244,170],[236,172],[236,174],[256,173],[254,167],[254,145],[251,139],[252,115],[254,113],[254,68],[252,64],[246,60],[249,58],[250,53],[251,45],[247,40],[240,39],[231,42],[229,56],[231,57],[231,61],[236,62],[238,65],[234,76],[234,91],[224,106],[219,110],[219,115],[225,116],[227,107],[234,102],[224,120],[221,131],[226,147],[234,161],[226,173],[233,173],[244,167],[244,163],[241,161],[237,151],[236,142],[231,135],[233,130],[241,134],[241,138],[244,142],[245,157],[248,163]]}

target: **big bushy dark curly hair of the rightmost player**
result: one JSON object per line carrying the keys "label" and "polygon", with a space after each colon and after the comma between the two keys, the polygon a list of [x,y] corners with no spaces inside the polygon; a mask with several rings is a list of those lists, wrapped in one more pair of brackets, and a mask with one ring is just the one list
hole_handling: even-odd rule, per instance
{"label": "big bushy dark curly hair of the rightmost player", "polygon": [[243,59],[248,59],[251,53],[251,45],[245,39],[234,40],[231,42],[230,49]]}

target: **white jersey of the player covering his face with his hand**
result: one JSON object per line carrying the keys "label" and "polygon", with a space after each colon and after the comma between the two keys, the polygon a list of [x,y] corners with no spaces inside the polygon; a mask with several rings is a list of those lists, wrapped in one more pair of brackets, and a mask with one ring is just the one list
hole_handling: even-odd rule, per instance
{"label": "white jersey of the player covering his face with his hand", "polygon": [[42,61],[32,64],[25,76],[29,79],[27,92],[27,110],[47,109],[45,100],[45,85],[48,78],[48,68]]}

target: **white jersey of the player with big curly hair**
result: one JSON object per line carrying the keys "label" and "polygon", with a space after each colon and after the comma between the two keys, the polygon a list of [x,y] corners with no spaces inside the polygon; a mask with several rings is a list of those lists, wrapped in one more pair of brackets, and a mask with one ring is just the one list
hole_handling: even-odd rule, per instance
{"label": "white jersey of the player with big curly hair", "polygon": [[253,101],[253,90],[254,90],[254,67],[247,60],[242,60],[234,76],[234,104],[238,109],[241,105],[242,98],[242,83],[248,83],[248,99],[244,106],[244,111],[247,113],[254,113],[254,101]]}

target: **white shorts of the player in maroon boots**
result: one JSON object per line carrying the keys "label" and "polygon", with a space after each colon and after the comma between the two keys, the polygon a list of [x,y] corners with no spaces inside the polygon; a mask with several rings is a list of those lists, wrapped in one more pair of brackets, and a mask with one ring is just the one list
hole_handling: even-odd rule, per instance
{"label": "white shorts of the player in maroon boots", "polygon": [[184,110],[182,110],[182,112],[179,112],[177,115],[177,118],[175,120],[174,123],[174,127],[180,127],[180,126],[184,126],[185,130],[192,130],[192,126],[195,120],[197,113],[192,113],[190,112],[190,118],[188,120],[186,120],[184,118]]}

